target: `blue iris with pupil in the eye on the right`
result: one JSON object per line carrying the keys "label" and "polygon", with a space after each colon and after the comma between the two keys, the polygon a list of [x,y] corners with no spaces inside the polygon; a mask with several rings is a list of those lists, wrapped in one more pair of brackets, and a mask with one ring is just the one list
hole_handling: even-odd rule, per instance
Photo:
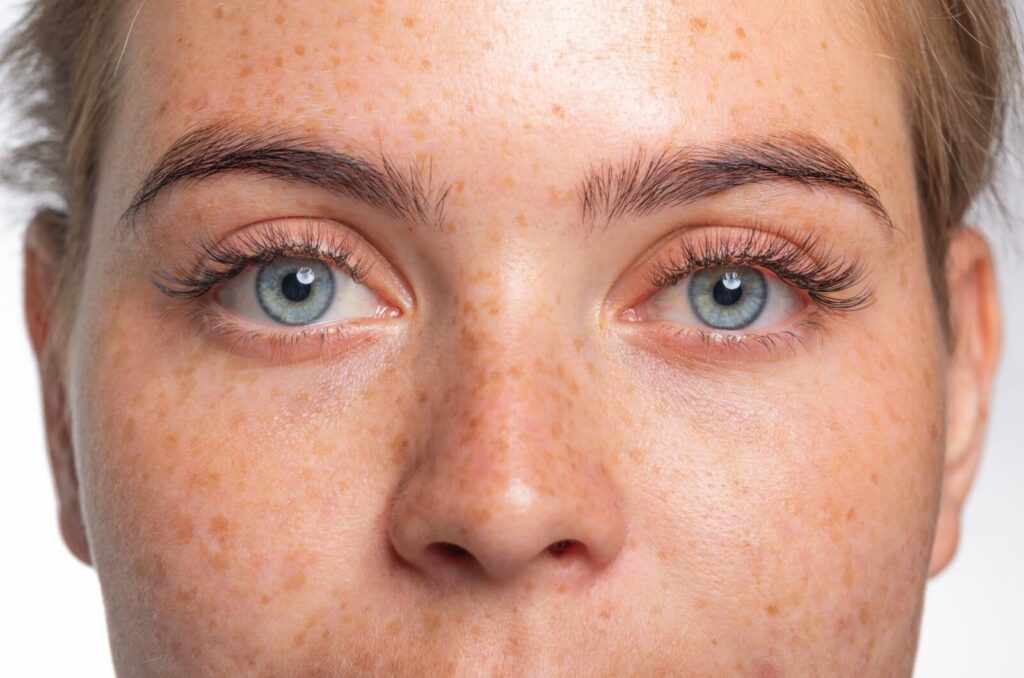
{"label": "blue iris with pupil in the eye on the right", "polygon": [[706,268],[690,277],[690,306],[716,330],[741,330],[768,302],[765,277],[749,266]]}

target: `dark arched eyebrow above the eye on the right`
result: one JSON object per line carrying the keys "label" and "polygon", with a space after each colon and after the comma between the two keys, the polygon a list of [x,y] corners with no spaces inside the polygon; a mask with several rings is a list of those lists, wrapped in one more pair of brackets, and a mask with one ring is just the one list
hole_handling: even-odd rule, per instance
{"label": "dark arched eyebrow above the eye on the right", "polygon": [[872,188],[838,151],[809,134],[785,134],[691,145],[624,163],[592,167],[580,187],[585,220],[605,224],[648,215],[755,183],[791,181],[852,195],[895,229]]}

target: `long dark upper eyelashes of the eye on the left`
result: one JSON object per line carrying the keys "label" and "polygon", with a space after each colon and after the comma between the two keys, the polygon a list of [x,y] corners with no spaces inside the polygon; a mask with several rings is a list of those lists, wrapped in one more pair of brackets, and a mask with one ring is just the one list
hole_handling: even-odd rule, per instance
{"label": "long dark upper eyelashes of the eye on the left", "polygon": [[238,239],[201,241],[200,254],[190,266],[162,270],[152,282],[169,297],[198,299],[250,266],[263,266],[278,257],[290,256],[332,261],[348,270],[352,280],[359,283],[370,265],[353,257],[349,240],[337,227],[323,223],[306,223],[298,231],[280,224],[266,224]]}

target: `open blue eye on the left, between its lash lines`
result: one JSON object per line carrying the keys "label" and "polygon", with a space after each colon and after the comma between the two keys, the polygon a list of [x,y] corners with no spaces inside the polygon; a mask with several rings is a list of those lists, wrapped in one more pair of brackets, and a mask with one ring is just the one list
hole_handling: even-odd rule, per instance
{"label": "open blue eye on the left, between its lash lines", "polygon": [[251,323],[301,327],[376,317],[388,306],[347,272],[319,259],[279,257],[246,269],[216,295],[227,310]]}

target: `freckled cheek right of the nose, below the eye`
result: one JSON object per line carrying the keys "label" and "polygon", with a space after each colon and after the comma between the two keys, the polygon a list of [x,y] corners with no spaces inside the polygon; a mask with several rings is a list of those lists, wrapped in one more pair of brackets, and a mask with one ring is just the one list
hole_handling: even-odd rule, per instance
{"label": "freckled cheek right of the nose, below the eye", "polygon": [[831,647],[837,670],[907,660],[941,477],[930,323],[849,346],[837,333],[763,371],[687,374],[637,414],[645,547],[724,645]]}

